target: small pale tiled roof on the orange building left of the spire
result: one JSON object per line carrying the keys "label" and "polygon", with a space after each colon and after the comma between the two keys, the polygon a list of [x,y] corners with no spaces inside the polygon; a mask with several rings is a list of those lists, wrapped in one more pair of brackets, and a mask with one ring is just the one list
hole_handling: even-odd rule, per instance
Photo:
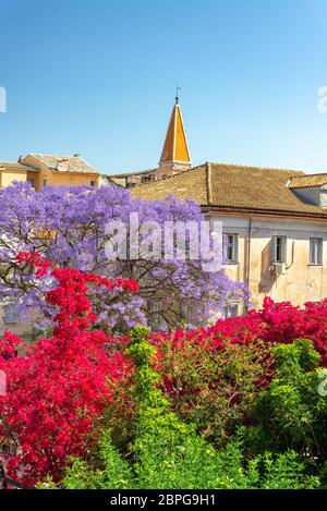
{"label": "small pale tiled roof on the orange building left of the spire", "polygon": [[72,172],[78,174],[98,174],[99,171],[88,165],[80,156],[53,156],[53,155],[39,155],[36,153],[29,153],[27,156],[32,156],[40,163],[45,165],[49,169],[56,172]]}

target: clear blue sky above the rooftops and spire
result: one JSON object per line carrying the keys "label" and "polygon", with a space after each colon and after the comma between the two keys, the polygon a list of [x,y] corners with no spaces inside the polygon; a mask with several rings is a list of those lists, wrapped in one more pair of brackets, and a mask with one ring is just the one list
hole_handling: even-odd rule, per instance
{"label": "clear blue sky above the rooftops and spire", "polygon": [[192,160],[327,171],[327,0],[0,0],[0,160],[158,162],[174,98]]}

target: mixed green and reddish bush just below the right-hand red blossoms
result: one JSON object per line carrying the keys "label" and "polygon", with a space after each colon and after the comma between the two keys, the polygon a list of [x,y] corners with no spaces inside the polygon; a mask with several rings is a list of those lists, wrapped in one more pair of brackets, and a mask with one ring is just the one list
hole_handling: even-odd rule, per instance
{"label": "mixed green and reddish bush just below the right-hand red blossoms", "polygon": [[173,411],[216,447],[221,448],[235,430],[249,422],[261,387],[256,385],[271,360],[261,343],[232,344],[213,349],[205,341],[185,339],[183,349],[164,352],[164,386]]}

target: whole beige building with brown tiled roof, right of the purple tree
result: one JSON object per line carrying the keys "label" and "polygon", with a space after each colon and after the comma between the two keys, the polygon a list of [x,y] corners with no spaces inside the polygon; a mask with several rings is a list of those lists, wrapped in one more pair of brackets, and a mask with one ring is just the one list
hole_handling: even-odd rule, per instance
{"label": "whole beige building with brown tiled roof, right of the purple tree", "polygon": [[222,222],[226,271],[251,291],[250,303],[228,307],[237,315],[265,296],[300,306],[327,297],[326,184],[327,174],[207,162],[131,193],[192,198]]}

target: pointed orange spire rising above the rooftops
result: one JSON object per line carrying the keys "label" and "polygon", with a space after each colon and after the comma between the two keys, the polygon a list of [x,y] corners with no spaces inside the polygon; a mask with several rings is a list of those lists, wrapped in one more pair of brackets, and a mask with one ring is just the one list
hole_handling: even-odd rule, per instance
{"label": "pointed orange spire rising above the rooftops", "polygon": [[181,108],[177,97],[175,105],[171,112],[157,174],[159,174],[159,178],[164,178],[172,173],[178,173],[181,170],[190,169],[191,167]]}

